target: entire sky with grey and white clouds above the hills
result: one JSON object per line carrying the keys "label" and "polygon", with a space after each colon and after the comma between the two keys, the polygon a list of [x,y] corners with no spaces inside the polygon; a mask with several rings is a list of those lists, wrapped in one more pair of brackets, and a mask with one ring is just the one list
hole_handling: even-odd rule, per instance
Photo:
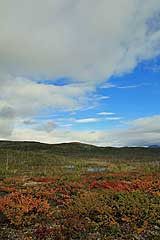
{"label": "entire sky with grey and white clouds above the hills", "polygon": [[0,0],[0,139],[160,145],[159,0]]}

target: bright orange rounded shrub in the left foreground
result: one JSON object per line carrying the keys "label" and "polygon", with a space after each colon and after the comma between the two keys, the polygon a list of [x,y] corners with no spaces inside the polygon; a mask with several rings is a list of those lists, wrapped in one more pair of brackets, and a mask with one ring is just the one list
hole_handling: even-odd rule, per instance
{"label": "bright orange rounded shrub in the left foreground", "polygon": [[1,211],[15,226],[26,226],[43,221],[49,216],[50,206],[46,199],[20,192],[11,193],[1,199]]}

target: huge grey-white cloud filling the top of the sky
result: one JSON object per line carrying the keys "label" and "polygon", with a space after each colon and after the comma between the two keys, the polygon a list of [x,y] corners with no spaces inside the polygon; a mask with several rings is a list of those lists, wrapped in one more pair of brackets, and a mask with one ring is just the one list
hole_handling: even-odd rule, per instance
{"label": "huge grey-white cloud filling the top of the sky", "polygon": [[159,0],[5,0],[0,9],[0,68],[17,76],[100,81],[160,52]]}

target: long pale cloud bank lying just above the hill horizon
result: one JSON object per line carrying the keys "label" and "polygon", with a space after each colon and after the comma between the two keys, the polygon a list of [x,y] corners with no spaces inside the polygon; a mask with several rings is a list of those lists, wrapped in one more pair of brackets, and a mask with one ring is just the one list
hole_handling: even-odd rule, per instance
{"label": "long pale cloud bank lying just above the hill horizon", "polygon": [[128,128],[110,131],[60,130],[56,128],[52,128],[50,131],[42,128],[14,129],[11,139],[47,143],[80,141],[100,146],[117,147],[160,145],[160,115],[140,118],[129,122]]}

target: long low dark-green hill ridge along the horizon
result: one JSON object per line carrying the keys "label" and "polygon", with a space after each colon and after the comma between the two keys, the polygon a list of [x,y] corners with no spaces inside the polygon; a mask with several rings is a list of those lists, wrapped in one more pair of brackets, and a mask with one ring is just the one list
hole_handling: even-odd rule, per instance
{"label": "long low dark-green hill ridge along the horizon", "polygon": [[[154,146],[154,147],[153,147]],[[65,159],[107,159],[107,160],[160,160],[160,147],[98,147],[80,142],[47,144],[29,141],[0,141],[0,154],[4,152],[30,152],[34,156],[50,155]],[[22,154],[23,155],[23,154]]]}

